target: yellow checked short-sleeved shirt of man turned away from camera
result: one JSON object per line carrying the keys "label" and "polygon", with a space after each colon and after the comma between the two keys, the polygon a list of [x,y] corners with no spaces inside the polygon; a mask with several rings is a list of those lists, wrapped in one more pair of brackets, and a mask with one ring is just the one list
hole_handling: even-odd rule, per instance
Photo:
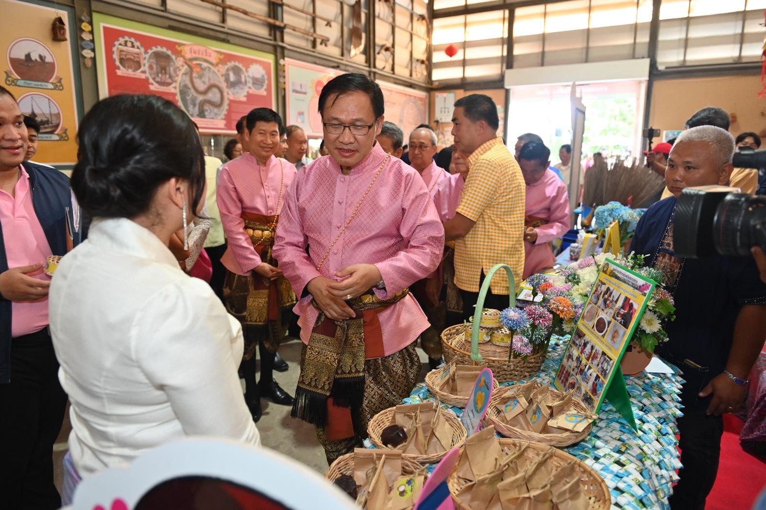
{"label": "yellow checked short-sleeved shirt of man turned away from camera", "polygon": [[[508,264],[522,282],[524,271],[524,211],[526,185],[511,152],[496,138],[481,145],[468,158],[470,172],[457,212],[476,224],[455,243],[455,284],[479,292],[479,279],[495,264]],[[496,273],[490,287],[508,295],[504,271]]]}

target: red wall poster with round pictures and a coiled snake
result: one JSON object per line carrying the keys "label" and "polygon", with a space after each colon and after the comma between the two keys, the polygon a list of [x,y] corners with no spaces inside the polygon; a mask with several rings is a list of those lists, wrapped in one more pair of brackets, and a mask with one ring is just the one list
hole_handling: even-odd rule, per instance
{"label": "red wall poster with round pictures and a coiled snake", "polygon": [[104,15],[94,21],[102,96],[165,97],[202,132],[234,132],[253,108],[274,107],[273,55]]}

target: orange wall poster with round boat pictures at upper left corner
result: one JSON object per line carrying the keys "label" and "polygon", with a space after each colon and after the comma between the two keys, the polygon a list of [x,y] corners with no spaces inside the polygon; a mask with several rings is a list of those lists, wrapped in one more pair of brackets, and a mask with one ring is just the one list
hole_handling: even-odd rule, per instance
{"label": "orange wall poster with round boat pictures at upper left corner", "polygon": [[[77,124],[82,115],[74,9],[46,2],[0,0],[3,86],[16,96],[21,112],[40,124],[33,161],[69,167],[77,161]],[[67,41],[54,41],[51,23],[61,16]],[[74,55],[74,57],[73,57]]]}

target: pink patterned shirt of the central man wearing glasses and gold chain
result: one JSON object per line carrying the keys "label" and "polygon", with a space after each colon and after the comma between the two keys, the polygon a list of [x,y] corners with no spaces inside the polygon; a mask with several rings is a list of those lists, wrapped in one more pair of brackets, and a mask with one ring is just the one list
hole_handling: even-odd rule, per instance
{"label": "pink patterned shirt of the central man wearing glasses and gold chain", "polygon": [[[303,296],[306,285],[317,276],[340,280],[336,273],[345,267],[371,263],[385,282],[385,289],[375,293],[388,299],[439,265],[444,227],[434,203],[421,176],[401,160],[390,158],[349,227],[322,267],[316,269],[385,157],[375,143],[349,175],[342,174],[331,156],[324,156],[296,176],[285,198],[273,248],[296,295]],[[295,307],[305,343],[319,315],[311,299],[310,295],[303,296]],[[410,294],[382,309],[378,319],[386,356],[410,345],[428,327],[426,316]]]}

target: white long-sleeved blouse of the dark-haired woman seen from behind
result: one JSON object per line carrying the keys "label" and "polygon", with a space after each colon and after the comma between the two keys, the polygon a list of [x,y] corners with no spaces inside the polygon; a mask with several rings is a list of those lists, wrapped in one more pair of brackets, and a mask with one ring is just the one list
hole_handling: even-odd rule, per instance
{"label": "white long-sleeved blouse of the dark-haired woman seen from behind", "polygon": [[93,221],[54,274],[50,319],[80,476],[184,436],[260,445],[237,377],[240,323],[146,228]]}

